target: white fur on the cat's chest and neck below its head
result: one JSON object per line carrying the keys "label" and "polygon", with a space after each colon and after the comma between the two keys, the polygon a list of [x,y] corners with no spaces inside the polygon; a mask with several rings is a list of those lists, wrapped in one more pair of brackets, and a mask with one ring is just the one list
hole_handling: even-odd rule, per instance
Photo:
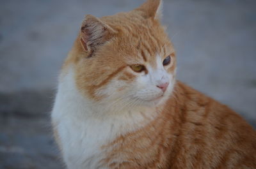
{"label": "white fur on the cat's chest and neck below its head", "polygon": [[93,107],[92,101],[77,91],[74,73],[70,69],[61,78],[52,110],[52,121],[60,136],[63,158],[70,169],[106,168],[102,164],[106,156],[102,145],[145,125],[145,117],[140,114],[140,110],[99,117],[93,115],[97,114],[93,112]]}

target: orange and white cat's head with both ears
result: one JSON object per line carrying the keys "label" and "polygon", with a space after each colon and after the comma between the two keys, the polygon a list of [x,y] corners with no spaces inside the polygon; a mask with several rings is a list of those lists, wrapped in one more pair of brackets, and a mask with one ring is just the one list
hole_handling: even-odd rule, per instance
{"label": "orange and white cat's head with both ears", "polygon": [[175,84],[175,51],[161,25],[161,1],[96,18],[87,15],[66,64],[84,96],[115,107],[155,106]]}

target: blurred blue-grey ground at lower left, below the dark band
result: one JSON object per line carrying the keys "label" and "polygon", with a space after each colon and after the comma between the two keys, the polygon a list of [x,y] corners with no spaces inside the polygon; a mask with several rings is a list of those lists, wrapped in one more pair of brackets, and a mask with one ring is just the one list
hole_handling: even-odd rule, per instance
{"label": "blurred blue-grey ground at lower left, below the dark band", "polygon": [[7,117],[0,119],[0,168],[64,168],[49,132],[49,119]]}

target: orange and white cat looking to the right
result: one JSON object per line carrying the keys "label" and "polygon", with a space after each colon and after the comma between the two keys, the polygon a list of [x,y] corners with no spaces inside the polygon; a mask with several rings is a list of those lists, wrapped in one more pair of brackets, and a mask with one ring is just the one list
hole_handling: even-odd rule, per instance
{"label": "orange and white cat looking to the right", "polygon": [[67,168],[256,168],[256,132],[175,80],[161,0],[86,15],[63,64],[52,126]]}

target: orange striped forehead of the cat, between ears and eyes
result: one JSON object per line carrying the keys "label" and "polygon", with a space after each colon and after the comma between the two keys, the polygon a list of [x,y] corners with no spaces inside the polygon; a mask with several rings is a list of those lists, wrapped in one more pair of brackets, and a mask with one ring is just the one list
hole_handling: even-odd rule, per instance
{"label": "orange striped forehead of the cat, between ears and eyes", "polygon": [[118,34],[115,43],[120,57],[128,64],[151,62],[156,64],[156,57],[166,57],[174,52],[172,43],[163,26],[156,20],[145,20],[131,16],[118,16],[110,23]]}

